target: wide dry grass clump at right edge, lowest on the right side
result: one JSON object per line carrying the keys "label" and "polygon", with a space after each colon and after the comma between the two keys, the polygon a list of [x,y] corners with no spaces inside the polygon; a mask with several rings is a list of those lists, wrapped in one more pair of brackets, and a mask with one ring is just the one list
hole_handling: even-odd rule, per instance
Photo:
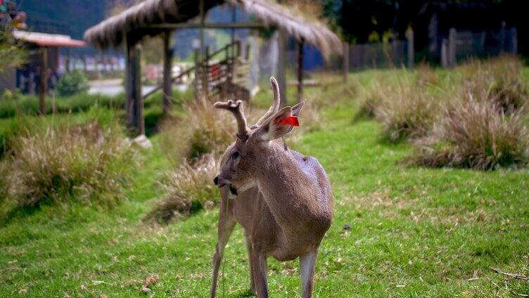
{"label": "wide dry grass clump at right edge, lowest on the right side", "polygon": [[416,141],[412,164],[492,170],[524,165],[528,130],[519,113],[506,115],[493,100],[469,95],[446,108],[428,137]]}

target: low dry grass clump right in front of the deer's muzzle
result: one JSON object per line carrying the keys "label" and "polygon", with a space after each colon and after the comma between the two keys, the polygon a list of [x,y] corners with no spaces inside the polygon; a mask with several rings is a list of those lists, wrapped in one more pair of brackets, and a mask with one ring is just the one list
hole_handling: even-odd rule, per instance
{"label": "low dry grass clump right in front of the deer's muzzle", "polygon": [[220,193],[212,181],[217,171],[218,164],[212,154],[203,155],[193,164],[183,162],[168,174],[167,183],[162,184],[166,195],[146,219],[167,224],[216,205]]}

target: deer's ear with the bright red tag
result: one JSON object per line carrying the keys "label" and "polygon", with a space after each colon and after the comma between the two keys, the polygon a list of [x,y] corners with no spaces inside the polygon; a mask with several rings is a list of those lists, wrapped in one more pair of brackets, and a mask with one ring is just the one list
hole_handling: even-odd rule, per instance
{"label": "deer's ear with the bright red tag", "polygon": [[293,127],[299,126],[298,117],[293,116],[292,112],[291,107],[276,112],[256,131],[257,136],[262,140],[272,141],[291,132]]}

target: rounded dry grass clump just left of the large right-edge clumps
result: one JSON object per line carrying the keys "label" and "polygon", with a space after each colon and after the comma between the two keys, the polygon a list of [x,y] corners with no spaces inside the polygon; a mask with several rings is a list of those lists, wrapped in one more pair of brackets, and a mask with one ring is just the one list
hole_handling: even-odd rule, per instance
{"label": "rounded dry grass clump just left of the large right-edge clumps", "polygon": [[425,136],[435,121],[438,101],[404,75],[395,85],[378,89],[376,119],[389,141]]}

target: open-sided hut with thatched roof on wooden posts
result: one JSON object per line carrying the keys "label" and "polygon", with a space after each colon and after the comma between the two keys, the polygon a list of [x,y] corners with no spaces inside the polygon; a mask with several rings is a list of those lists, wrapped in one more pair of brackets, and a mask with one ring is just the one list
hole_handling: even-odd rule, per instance
{"label": "open-sided hut with thatched roof on wooden posts", "polygon": [[[230,4],[233,7],[241,8],[246,13],[253,15],[257,22],[230,22],[230,23],[206,23],[205,13],[211,8],[221,4]],[[199,19],[200,22],[193,22]],[[259,29],[276,27],[279,29],[280,48],[279,51],[279,71],[277,77],[282,84],[281,93],[284,96],[285,89],[285,36],[298,39],[300,49],[303,43],[308,43],[319,48],[324,57],[329,57],[332,53],[341,53],[342,44],[340,39],[329,28],[318,20],[309,20],[300,11],[293,8],[277,4],[273,0],[145,0],[128,8],[118,15],[114,15],[98,25],[89,28],[84,34],[84,39],[96,48],[116,48],[124,46],[127,53],[127,102],[129,105],[129,121],[139,125],[140,132],[141,119],[141,87],[139,84],[139,55],[141,51],[136,46],[145,37],[153,37],[165,34],[165,61],[164,74],[170,76],[172,53],[170,46],[170,32],[172,30],[184,28],[204,29]],[[201,33],[203,36],[203,33]],[[202,39],[201,39],[202,40]],[[200,48],[203,50],[203,45]],[[202,51],[201,51],[202,52]],[[302,50],[300,50],[302,56]],[[301,62],[302,59],[300,58]],[[301,67],[298,71],[301,79]],[[165,75],[166,77],[166,75]],[[169,97],[172,79],[164,78],[163,90]],[[300,92],[302,84],[299,85]],[[136,105],[134,105],[136,103]],[[136,120],[135,120],[136,119]]]}

